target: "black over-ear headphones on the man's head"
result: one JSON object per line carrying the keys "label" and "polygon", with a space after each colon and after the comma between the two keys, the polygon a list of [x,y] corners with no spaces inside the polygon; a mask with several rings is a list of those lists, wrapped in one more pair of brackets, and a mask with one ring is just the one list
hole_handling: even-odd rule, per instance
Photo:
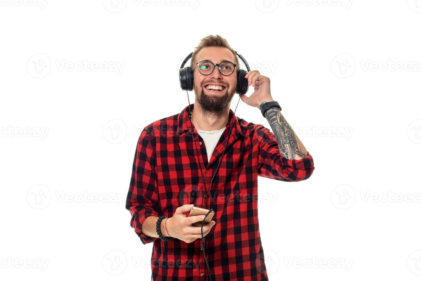
{"label": "black over-ear headphones on the man's head", "polygon": [[[237,91],[235,91],[237,94],[243,95],[247,93],[248,90],[248,80],[244,78],[244,76],[247,74],[248,71],[250,71],[250,67],[248,67],[248,63],[243,58],[242,55],[238,54],[236,51],[234,51],[235,54],[244,62],[245,67],[247,67],[247,71],[238,69],[237,65]],[[184,67],[184,64],[192,57],[192,53],[190,53],[183,61],[183,63],[180,66],[180,87],[183,89],[183,91],[193,91],[193,70],[191,67]]]}

